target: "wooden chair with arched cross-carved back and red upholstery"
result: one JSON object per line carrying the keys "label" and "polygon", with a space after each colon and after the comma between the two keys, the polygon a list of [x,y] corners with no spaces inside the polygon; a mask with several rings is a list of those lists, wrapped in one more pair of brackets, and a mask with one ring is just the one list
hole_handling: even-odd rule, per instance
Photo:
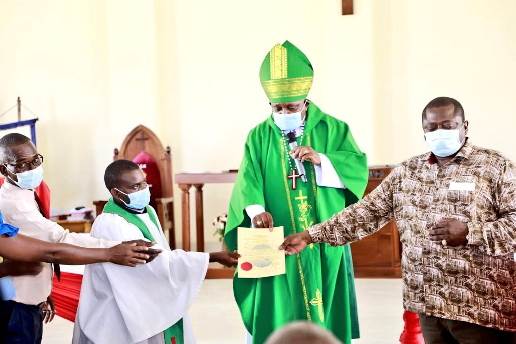
{"label": "wooden chair with arched cross-carved back and red upholstery", "polygon": [[[172,183],[172,156],[170,147],[164,148],[159,138],[147,127],[141,124],[134,128],[124,139],[120,150],[115,148],[114,161],[125,159],[135,161],[140,165],[144,173],[147,173],[148,182],[151,179],[151,169],[157,168],[157,180],[149,184],[151,188],[150,205],[156,210],[159,223],[165,235],[169,234],[169,245],[175,249],[175,225],[174,225],[174,193]],[[150,164],[140,164],[138,161],[148,161]],[[155,172],[155,170],[152,170]],[[156,178],[156,173],[152,176]],[[154,189],[153,189],[154,186]],[[156,195],[158,197],[156,197]],[[107,201],[93,201],[96,214],[99,215]]]}

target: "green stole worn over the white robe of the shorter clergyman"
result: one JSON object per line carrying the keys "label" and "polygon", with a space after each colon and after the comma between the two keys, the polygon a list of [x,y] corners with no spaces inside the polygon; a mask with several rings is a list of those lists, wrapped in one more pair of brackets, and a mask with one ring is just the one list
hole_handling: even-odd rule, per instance
{"label": "green stole worn over the white robe of the shorter clergyman", "polygon": [[[156,226],[156,228],[159,228],[158,222],[156,220],[156,217],[154,216],[154,212],[151,210],[151,207],[147,206],[145,208],[147,210],[147,213],[149,214],[149,218],[151,219],[152,223]],[[141,220],[141,218],[120,207],[118,204],[115,203],[112,197],[109,198],[109,201],[104,206],[104,210],[102,211],[102,213],[111,213],[123,217],[128,223],[138,227],[138,229],[143,234],[144,238],[150,241],[155,241],[149,228],[147,228],[147,226]],[[178,322],[170,326],[168,329],[166,329],[164,331],[164,334],[165,343],[184,344],[183,319],[179,320]]]}

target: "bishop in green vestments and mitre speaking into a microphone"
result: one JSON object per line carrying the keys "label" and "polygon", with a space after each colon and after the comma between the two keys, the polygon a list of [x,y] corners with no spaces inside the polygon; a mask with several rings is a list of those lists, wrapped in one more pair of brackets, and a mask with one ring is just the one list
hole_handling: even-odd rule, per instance
{"label": "bishop in green vestments and mitre speaking into a microphone", "polygon": [[[283,226],[287,236],[327,220],[364,193],[366,156],[345,122],[307,99],[313,75],[307,56],[288,41],[273,46],[262,63],[260,81],[272,114],[246,141],[225,232],[230,250],[237,248],[237,227]],[[296,141],[292,149],[289,142]],[[326,327],[344,343],[359,337],[348,245],[314,244],[287,256],[284,275],[253,279],[237,272],[233,287],[253,343],[295,320]]]}

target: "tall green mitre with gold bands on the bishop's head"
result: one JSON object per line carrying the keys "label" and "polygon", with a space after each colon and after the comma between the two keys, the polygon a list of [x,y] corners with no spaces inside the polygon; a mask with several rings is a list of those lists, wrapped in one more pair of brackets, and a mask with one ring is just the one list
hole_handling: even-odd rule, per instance
{"label": "tall green mitre with gold bands on the bishop's head", "polygon": [[260,67],[260,82],[271,103],[307,98],[313,81],[310,60],[289,41],[273,46]]}

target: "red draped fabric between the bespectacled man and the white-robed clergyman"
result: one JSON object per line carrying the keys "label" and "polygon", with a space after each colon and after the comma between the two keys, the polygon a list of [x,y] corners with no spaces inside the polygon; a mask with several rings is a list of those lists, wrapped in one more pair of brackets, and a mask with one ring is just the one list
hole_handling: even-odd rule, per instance
{"label": "red draped fabric between the bespectacled man and the white-robed clergyman", "polygon": [[56,304],[56,314],[61,318],[75,322],[75,314],[79,303],[80,285],[83,275],[61,272],[61,282],[54,275],[52,298]]}

